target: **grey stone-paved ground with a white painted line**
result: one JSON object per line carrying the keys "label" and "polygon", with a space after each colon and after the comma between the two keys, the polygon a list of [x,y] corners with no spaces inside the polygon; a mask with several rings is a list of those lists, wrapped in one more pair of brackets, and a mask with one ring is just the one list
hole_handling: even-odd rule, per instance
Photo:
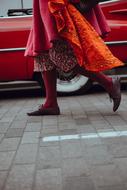
{"label": "grey stone-paved ground with a white painted line", "polygon": [[127,93],[59,97],[60,116],[28,117],[41,98],[0,101],[0,190],[126,190]]}

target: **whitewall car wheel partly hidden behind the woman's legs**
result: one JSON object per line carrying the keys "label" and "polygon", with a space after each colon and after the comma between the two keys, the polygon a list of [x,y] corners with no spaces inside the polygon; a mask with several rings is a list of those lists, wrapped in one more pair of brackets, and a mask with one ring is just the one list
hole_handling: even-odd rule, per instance
{"label": "whitewall car wheel partly hidden behind the woman's legs", "polygon": [[75,75],[73,72],[60,73],[57,77],[57,92],[59,94],[78,94],[87,92],[92,82],[82,75]]}

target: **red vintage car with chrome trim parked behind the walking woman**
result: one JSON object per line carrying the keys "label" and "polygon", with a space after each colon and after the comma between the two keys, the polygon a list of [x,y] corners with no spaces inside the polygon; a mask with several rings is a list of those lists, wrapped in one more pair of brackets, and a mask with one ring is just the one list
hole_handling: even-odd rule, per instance
{"label": "red vintage car with chrome trim parked behind the walking woman", "polygon": [[[127,62],[127,1],[103,1],[101,7],[111,27],[106,43],[112,53],[124,63]],[[7,81],[41,81],[40,73],[34,71],[32,58],[24,57],[24,50],[31,27],[31,15],[14,16],[21,10],[10,10],[12,16],[0,17],[0,82]],[[30,13],[29,9],[22,10]],[[107,74],[127,76],[124,67],[113,69]],[[69,78],[66,81],[65,78]],[[88,78],[65,74],[57,81],[58,92],[77,92],[87,90],[91,85]]]}

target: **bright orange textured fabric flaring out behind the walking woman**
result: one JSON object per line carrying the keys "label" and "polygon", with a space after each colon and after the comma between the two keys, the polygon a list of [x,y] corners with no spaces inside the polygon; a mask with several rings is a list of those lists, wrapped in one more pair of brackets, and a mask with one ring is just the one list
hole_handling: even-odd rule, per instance
{"label": "bright orange textured fabric flaring out behind the walking woman", "polygon": [[123,65],[84,16],[67,0],[49,0],[48,6],[60,37],[71,44],[80,66],[99,72]]}

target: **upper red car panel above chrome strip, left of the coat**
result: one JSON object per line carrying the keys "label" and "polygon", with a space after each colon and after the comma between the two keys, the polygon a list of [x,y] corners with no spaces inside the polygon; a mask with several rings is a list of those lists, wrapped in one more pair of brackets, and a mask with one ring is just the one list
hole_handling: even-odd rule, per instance
{"label": "upper red car panel above chrome strip, left of the coat", "polygon": [[25,47],[31,24],[31,16],[0,18],[0,49]]}

